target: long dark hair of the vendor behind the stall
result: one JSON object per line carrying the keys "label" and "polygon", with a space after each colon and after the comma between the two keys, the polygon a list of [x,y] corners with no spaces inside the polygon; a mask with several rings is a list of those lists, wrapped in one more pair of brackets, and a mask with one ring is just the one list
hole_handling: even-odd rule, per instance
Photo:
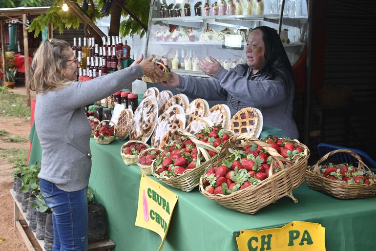
{"label": "long dark hair of the vendor behind the stall", "polygon": [[279,63],[282,63],[286,70],[292,75],[291,63],[286,55],[285,48],[283,47],[278,33],[268,26],[258,26],[253,30],[261,30],[263,33],[262,40],[265,43],[265,63],[262,66],[262,70],[268,71],[271,69],[272,64],[278,60]]}

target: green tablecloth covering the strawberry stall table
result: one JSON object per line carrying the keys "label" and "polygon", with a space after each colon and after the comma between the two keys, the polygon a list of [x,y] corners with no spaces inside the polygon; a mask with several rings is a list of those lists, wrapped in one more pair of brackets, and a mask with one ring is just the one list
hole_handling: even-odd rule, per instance
{"label": "green tablecloth covering the strawberry stall table", "polygon": [[[32,151],[40,151],[34,144]],[[116,140],[110,145],[98,145],[94,139],[90,140],[93,164],[89,186],[107,211],[108,235],[116,244],[114,250],[157,250],[160,237],[134,226],[141,172],[137,166],[123,163],[120,157],[122,144],[124,141]],[[164,251],[236,251],[234,234],[237,231],[282,227],[291,221],[322,224],[326,228],[327,251],[375,249],[376,198],[339,200],[303,184],[293,191],[299,203],[282,198],[249,215],[216,204],[202,195],[198,188],[182,192],[165,186],[176,193],[179,200]]]}

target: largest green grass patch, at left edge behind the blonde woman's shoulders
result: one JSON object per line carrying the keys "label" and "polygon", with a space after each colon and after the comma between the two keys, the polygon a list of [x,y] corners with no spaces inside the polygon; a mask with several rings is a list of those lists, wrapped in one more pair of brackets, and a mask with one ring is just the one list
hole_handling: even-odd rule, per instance
{"label": "largest green grass patch, at left edge behind the blonde woman's shoulders", "polygon": [[30,107],[27,107],[26,96],[9,93],[4,87],[0,87],[0,117],[30,117]]}

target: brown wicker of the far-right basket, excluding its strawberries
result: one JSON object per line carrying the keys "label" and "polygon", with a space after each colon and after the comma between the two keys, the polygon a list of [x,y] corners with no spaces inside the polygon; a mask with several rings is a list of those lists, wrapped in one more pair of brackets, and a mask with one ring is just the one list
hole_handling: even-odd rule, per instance
{"label": "brown wicker of the far-right basket, excluding its strawberries", "polygon": [[358,154],[348,149],[339,149],[327,153],[316,163],[316,165],[307,169],[306,180],[308,187],[327,193],[338,199],[360,199],[374,197],[376,195],[376,183],[370,185],[348,184],[343,181],[331,180],[321,175],[319,168],[320,164],[327,160],[329,156],[339,152],[345,152],[353,155],[359,161],[357,166],[359,171],[364,171],[364,174],[368,176],[376,177],[376,175],[364,164]]}

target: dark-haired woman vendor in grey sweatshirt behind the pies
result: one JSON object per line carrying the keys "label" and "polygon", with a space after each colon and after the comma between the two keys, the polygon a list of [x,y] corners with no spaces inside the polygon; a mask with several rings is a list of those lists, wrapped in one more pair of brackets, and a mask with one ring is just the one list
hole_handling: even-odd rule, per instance
{"label": "dark-haired woman vendor in grey sweatshirt behind the pies", "polygon": [[281,128],[298,138],[292,118],[295,83],[292,67],[277,32],[267,26],[256,27],[247,39],[247,63],[226,70],[213,63],[198,63],[210,78],[172,73],[165,86],[176,87],[190,98],[227,101],[231,116],[244,107],[258,108],[264,125]]}

